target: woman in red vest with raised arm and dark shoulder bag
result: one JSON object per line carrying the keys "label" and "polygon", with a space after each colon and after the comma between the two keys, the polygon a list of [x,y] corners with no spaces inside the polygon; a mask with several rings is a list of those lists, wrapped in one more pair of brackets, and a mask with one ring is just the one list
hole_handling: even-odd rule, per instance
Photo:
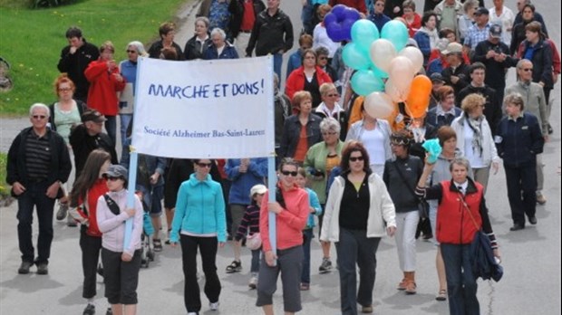
{"label": "woman in red vest with raised arm and dark shoulder bag", "polygon": [[470,263],[470,244],[481,228],[488,234],[494,256],[499,258],[496,236],[489,223],[483,187],[468,177],[469,161],[464,157],[452,160],[451,181],[425,188],[435,164],[426,162],[418,181],[416,194],[437,199],[437,241],[445,262],[449,311],[451,314],[480,314],[476,296],[478,284]]}

